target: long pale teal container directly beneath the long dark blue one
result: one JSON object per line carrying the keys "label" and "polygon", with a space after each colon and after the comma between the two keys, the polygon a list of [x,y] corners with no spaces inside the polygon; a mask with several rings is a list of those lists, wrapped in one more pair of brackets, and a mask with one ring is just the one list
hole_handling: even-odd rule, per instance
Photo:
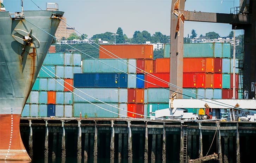
{"label": "long pale teal container directly beneath the long dark blue one", "polygon": [[[85,101],[74,94],[74,102],[118,102],[118,88],[77,88],[74,90],[74,93],[87,100]],[[95,99],[89,97],[88,95]]]}

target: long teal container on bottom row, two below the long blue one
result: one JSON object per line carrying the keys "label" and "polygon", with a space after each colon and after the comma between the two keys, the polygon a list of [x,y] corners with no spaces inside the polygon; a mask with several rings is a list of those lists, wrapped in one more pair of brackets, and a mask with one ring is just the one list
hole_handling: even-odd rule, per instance
{"label": "long teal container on bottom row, two below the long blue one", "polygon": [[[92,118],[118,118],[119,109],[118,103],[75,103],[73,104],[74,108],[74,117],[92,117]],[[114,107],[113,107],[114,106]],[[117,108],[115,108],[117,107]],[[104,109],[102,109],[104,108]],[[110,112],[111,111],[111,112]]]}

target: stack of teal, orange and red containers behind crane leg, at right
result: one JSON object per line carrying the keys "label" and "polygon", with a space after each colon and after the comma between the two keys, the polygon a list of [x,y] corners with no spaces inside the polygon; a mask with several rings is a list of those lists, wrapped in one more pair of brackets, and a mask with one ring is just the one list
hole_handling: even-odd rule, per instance
{"label": "stack of teal, orange and red containers behind crane leg, at right", "polygon": [[[185,43],[183,53],[183,98],[232,99],[233,59],[230,43]],[[164,46],[164,57],[170,57],[170,44]],[[236,99],[238,98],[238,60],[235,60]],[[186,91],[187,90],[187,91]],[[193,93],[198,95],[195,95]],[[198,113],[199,109],[188,109]],[[207,115],[214,115],[214,111]],[[217,115],[217,118],[218,115]]]}

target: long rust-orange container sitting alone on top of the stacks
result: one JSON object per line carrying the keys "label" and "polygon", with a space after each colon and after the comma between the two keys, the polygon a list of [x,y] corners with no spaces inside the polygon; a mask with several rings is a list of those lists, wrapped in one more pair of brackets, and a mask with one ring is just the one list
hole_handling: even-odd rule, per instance
{"label": "long rust-orange container sitting alone on top of the stacks", "polygon": [[100,45],[99,58],[118,58],[116,56],[153,59],[153,45]]}

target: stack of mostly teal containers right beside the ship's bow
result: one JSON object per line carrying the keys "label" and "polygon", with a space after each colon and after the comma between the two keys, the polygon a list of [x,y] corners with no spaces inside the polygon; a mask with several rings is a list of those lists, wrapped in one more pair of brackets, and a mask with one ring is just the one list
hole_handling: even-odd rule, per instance
{"label": "stack of mostly teal containers right beside the ship's bow", "polygon": [[73,74],[82,72],[81,54],[48,53],[43,65],[46,73],[42,69],[39,71],[21,116],[73,117]]}

